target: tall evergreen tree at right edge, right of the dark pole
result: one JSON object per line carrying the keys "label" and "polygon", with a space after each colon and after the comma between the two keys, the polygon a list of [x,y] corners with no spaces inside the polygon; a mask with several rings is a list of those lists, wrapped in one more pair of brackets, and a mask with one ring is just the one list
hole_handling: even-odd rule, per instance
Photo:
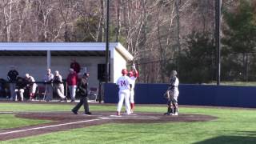
{"label": "tall evergreen tree at right edge, right of the dark pole", "polygon": [[[255,7],[252,2],[240,0],[238,9],[224,10],[226,26],[223,28],[223,49],[232,53],[242,54],[244,79],[248,80],[249,54],[256,47],[256,22],[254,14]],[[227,57],[230,53],[224,55]]]}

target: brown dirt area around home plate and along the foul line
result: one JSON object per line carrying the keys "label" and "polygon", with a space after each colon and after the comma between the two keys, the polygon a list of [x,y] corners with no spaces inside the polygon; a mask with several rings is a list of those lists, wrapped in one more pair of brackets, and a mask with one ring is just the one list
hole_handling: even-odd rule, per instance
{"label": "brown dirt area around home plate and along the foul line", "polygon": [[[1,114],[1,113],[0,113]],[[164,116],[159,113],[135,113],[115,116],[114,112],[94,112],[92,115],[72,114],[71,112],[48,112],[48,113],[14,113],[18,118],[33,118],[52,120],[47,124],[37,126],[25,126],[14,129],[0,130],[0,141],[25,138],[38,134],[47,134],[56,131],[64,131],[86,126],[96,126],[105,123],[150,123],[150,122],[206,122],[215,117],[201,114],[179,114],[178,116]]]}

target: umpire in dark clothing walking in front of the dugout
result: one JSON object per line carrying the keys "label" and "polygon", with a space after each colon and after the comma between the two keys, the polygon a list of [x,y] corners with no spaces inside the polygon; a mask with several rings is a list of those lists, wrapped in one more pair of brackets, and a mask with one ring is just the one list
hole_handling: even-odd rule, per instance
{"label": "umpire in dark clothing walking in front of the dugout", "polygon": [[78,110],[83,104],[83,107],[85,109],[85,114],[91,114],[89,111],[89,105],[88,105],[88,77],[89,74],[85,73],[82,75],[82,78],[78,82],[78,87],[77,87],[77,94],[80,96],[80,102],[74,106],[74,108],[71,110],[74,114],[78,114]]}

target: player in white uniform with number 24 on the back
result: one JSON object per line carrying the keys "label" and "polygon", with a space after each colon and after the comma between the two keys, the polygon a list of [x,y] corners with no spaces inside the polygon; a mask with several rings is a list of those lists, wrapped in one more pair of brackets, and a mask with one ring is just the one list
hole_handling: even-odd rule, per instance
{"label": "player in white uniform with number 24 on the back", "polygon": [[117,85],[119,87],[119,102],[118,102],[118,110],[117,115],[120,116],[120,112],[122,109],[122,103],[125,100],[126,103],[126,114],[130,114],[130,78],[127,77],[128,71],[126,69],[122,69],[122,76],[118,78]]}

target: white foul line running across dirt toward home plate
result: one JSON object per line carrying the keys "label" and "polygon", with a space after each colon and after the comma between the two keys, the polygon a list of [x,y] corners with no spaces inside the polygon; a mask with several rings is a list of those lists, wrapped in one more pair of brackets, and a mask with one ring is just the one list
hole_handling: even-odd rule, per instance
{"label": "white foul line running across dirt toward home plate", "polygon": [[52,126],[34,127],[34,128],[30,128],[30,129],[24,129],[24,130],[14,130],[14,131],[9,131],[9,132],[5,132],[5,133],[0,133],[0,135],[14,134],[14,133],[19,133],[19,132],[29,131],[29,130],[41,130],[41,129],[46,129],[46,128],[50,128],[50,127],[57,127],[57,126],[67,126],[67,125],[73,125],[73,124],[82,123],[82,122],[93,122],[93,121],[99,121],[99,120],[102,120],[102,119],[106,119],[106,118],[90,119],[90,120],[86,120],[86,121],[62,123],[62,124],[52,125]]}

